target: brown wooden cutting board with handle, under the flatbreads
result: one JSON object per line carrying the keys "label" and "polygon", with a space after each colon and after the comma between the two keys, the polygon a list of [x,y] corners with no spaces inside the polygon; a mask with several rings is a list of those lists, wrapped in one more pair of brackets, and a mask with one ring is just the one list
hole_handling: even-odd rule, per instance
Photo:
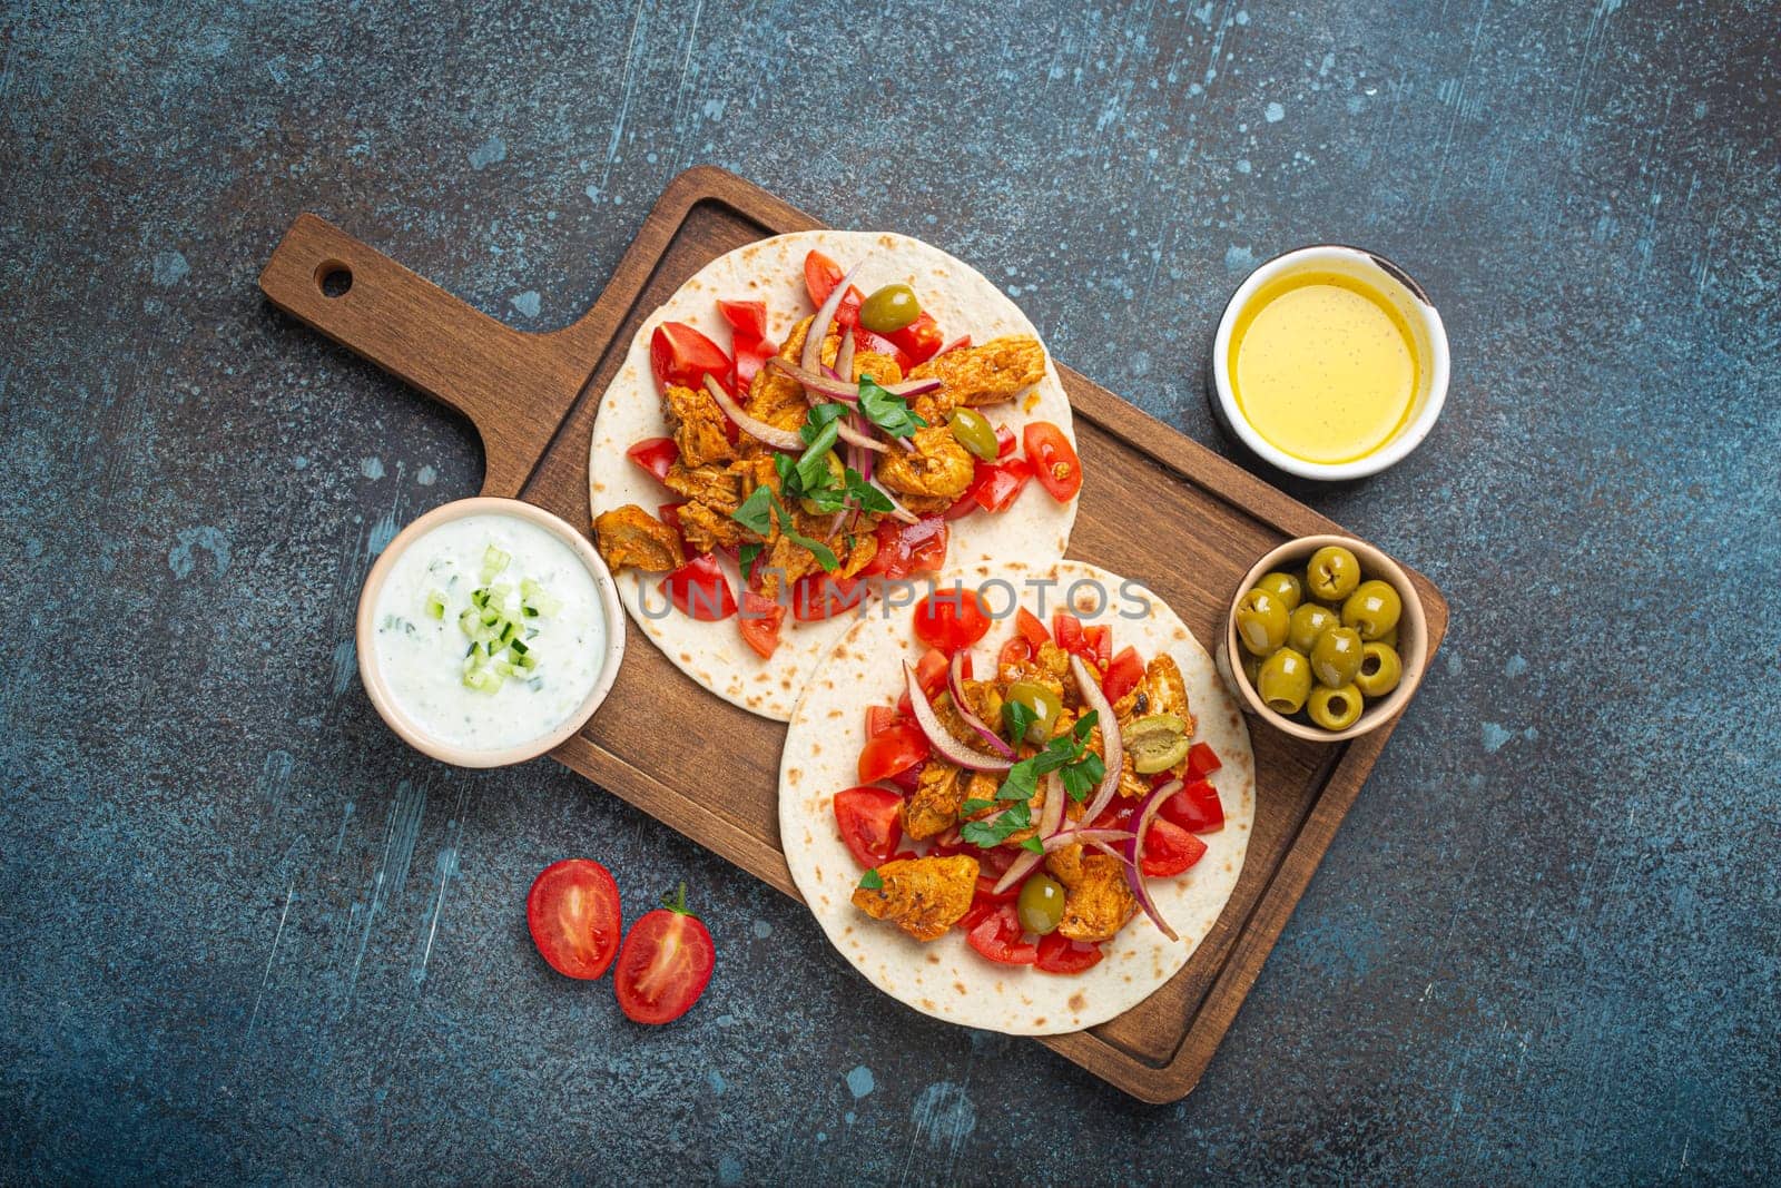
{"label": "brown wooden cutting board with handle, under the flatbreads", "polygon": [[[525,499],[588,527],[595,410],[641,321],[714,256],[816,226],[730,173],[687,169],[655,203],[593,308],[545,335],[502,326],[308,214],[290,224],[260,289],[287,313],[465,413],[483,436],[484,495]],[[1058,370],[1076,408],[1086,476],[1069,556],[1140,579],[1200,641],[1216,643],[1231,591],[1257,556],[1286,538],[1343,531],[1069,367]],[[1411,570],[1411,579],[1428,611],[1434,655],[1446,600],[1421,574]],[[785,727],[712,696],[636,625],[627,622],[627,631],[611,698],[554,757],[796,898],[778,846]],[[1252,721],[1254,834],[1218,924],[1181,972],[1133,1010],[1040,1042],[1143,1101],[1186,1095],[1393,727],[1314,745]],[[698,777],[711,771],[727,778]],[[834,976],[848,976],[841,967],[837,958]]]}

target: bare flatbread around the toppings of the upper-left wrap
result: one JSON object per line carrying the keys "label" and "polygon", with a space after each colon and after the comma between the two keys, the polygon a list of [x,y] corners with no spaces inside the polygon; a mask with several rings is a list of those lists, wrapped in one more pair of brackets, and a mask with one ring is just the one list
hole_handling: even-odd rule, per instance
{"label": "bare flatbread around the toppings of the upper-left wrap", "polygon": [[[803,285],[803,258],[812,249],[842,267],[864,262],[855,285],[873,292],[880,285],[910,285],[947,338],[971,335],[983,344],[1001,335],[1033,335],[1033,322],[1021,308],[969,264],[955,260],[908,235],[889,232],[798,232],[737,248],[702,267],[663,308],[650,313],[630,340],[623,367],[600,399],[588,458],[590,506],[593,515],[639,504],[652,515],[675,497],[625,451],[650,436],[666,436],[661,392],[650,370],[650,335],[663,322],[687,322],[712,342],[728,346],[730,331],[718,313],[718,299],[766,301],[768,337],[784,342],[810,315]],[[1076,442],[1070,403],[1058,369],[1045,353],[1045,378],[1037,399],[994,404],[981,411],[992,422],[1021,433],[1033,420],[1056,424]],[[1033,561],[1049,565],[1063,556],[1076,524],[1076,504],[1058,504],[1038,483],[1028,483],[1019,499],[1001,513],[974,513],[953,520],[947,565],[974,561]],[[680,671],[718,696],[746,711],[785,721],[816,663],[853,625],[853,616],[798,623],[787,616],[773,659],[764,661],[743,643],[734,620],[703,623],[686,614],[664,613],[657,591],[661,575],[625,570],[614,575],[618,595],[638,629]],[[732,584],[736,575],[730,575]]]}

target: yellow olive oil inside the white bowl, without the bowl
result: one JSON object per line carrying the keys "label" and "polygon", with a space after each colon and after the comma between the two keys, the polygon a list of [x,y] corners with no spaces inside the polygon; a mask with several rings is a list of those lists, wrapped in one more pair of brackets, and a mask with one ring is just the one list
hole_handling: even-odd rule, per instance
{"label": "yellow olive oil inside the white bowl, without the bowl", "polygon": [[1277,449],[1314,463],[1366,458],[1411,417],[1421,376],[1403,312],[1341,273],[1263,285],[1231,331],[1231,390]]}

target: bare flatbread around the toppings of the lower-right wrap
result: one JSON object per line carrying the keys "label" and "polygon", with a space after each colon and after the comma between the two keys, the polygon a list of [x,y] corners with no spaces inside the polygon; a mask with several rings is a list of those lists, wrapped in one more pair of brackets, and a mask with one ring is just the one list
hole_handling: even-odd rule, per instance
{"label": "bare flatbread around the toppings of the lower-right wrap", "polygon": [[[835,825],[834,794],[855,785],[867,705],[889,705],[903,689],[903,661],[924,645],[910,627],[910,611],[885,607],[853,625],[810,679],[780,761],[780,844],[793,880],[823,932],[850,965],[885,994],[924,1015],[1010,1035],[1079,1031],[1124,1013],[1175,974],[1218,921],[1231,899],[1256,816],[1256,757],[1241,709],[1218,679],[1213,659],[1174,611],[1147,588],[1078,561],[1056,566],[971,566],[960,577],[983,590],[992,613],[1008,606],[1001,579],[1035,607],[1049,577],[1042,618],[1069,606],[1085,625],[1110,623],[1115,650],[1133,645],[1145,661],[1167,652],[1181,668],[1195,741],[1211,743],[1224,761],[1213,785],[1224,803],[1224,828],[1202,834],[1206,855],[1177,878],[1152,878],[1149,891],[1163,919],[1181,935],[1168,940],[1142,912],[1101,946],[1102,960],[1081,974],[1047,974],[1033,967],[997,965],[980,956],[960,930],[926,944],[889,921],[853,907],[860,866]],[[1104,591],[1104,606],[1095,611]],[[1069,598],[1069,602],[1065,602]],[[1008,616],[1013,611],[1008,609]],[[996,648],[1013,631],[1008,618],[992,625],[974,650],[978,671],[994,666]]]}

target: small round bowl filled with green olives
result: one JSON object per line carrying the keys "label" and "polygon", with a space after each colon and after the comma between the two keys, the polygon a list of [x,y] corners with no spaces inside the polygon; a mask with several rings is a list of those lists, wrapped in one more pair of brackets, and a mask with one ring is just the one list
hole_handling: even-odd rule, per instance
{"label": "small round bowl filled with green olives", "polygon": [[1411,579],[1378,549],[1304,536],[1243,575],[1220,650],[1248,712],[1293,737],[1339,743],[1411,700],[1428,622]]}

